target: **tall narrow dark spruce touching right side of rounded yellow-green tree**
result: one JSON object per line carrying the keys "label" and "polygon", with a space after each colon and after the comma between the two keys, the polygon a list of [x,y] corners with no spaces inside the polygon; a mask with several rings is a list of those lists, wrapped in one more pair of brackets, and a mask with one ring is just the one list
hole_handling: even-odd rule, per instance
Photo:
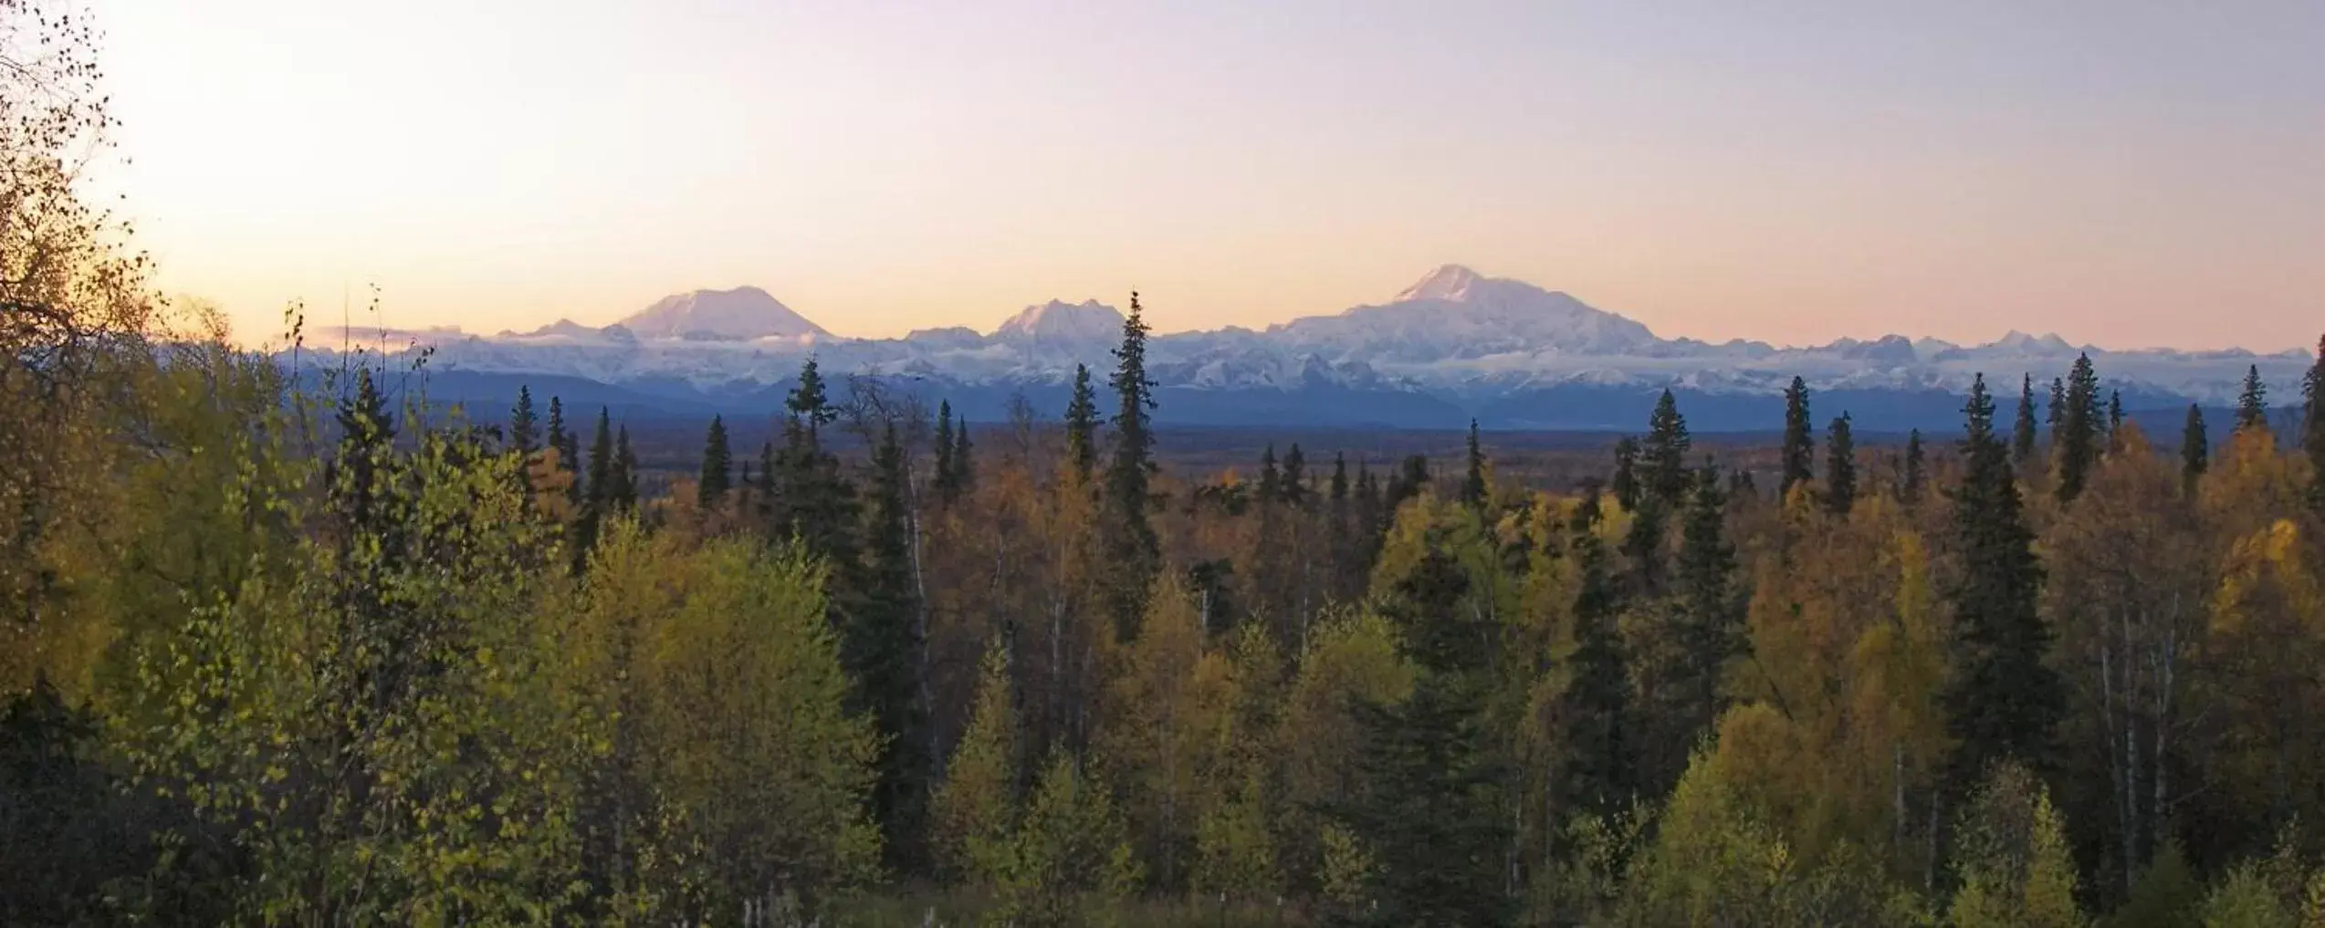
{"label": "tall narrow dark spruce touching right side of rounded yellow-green tree", "polygon": [[858,688],[858,712],[884,737],[872,812],[886,833],[890,861],[921,861],[921,812],[930,786],[928,707],[921,702],[923,640],[911,581],[911,486],[895,423],[872,449],[865,500],[865,549],[856,600],[846,612],[842,663]]}

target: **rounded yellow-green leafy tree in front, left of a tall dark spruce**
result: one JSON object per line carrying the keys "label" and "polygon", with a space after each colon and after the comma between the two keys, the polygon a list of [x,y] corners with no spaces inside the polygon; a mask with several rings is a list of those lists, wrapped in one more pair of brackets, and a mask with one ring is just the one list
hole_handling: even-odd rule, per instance
{"label": "rounded yellow-green leafy tree in front, left of a tall dark spruce", "polygon": [[795,547],[684,549],[609,526],[570,602],[558,688],[607,726],[591,826],[616,909],[725,921],[749,895],[874,875],[881,740],[846,707],[823,574]]}

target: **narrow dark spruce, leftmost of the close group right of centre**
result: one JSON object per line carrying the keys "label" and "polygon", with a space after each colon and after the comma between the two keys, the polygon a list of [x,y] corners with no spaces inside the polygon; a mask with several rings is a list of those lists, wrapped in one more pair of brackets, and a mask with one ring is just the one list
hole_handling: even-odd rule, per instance
{"label": "narrow dark spruce, leftmost of the close group right of centre", "polygon": [[1560,693],[1555,798],[1565,816],[1607,814],[1637,791],[1630,744],[1630,670],[1616,628],[1621,600],[1607,577],[1607,551],[1597,537],[1600,493],[1586,488],[1569,523],[1567,549],[1581,567],[1574,591],[1574,654]]}

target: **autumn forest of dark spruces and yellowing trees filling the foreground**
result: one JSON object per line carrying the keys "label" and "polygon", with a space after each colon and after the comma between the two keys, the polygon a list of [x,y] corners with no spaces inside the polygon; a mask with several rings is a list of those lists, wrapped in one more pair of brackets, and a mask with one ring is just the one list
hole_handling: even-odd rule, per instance
{"label": "autumn forest of dark spruces and yellowing trees filling the foreground", "polygon": [[1579,474],[1193,470],[1132,295],[1065,409],[807,363],[656,470],[158,298],[40,9],[0,923],[2325,926],[2325,363],[2176,435],[2081,361],[1948,435],[1795,381],[1767,449],[1665,393]]}

